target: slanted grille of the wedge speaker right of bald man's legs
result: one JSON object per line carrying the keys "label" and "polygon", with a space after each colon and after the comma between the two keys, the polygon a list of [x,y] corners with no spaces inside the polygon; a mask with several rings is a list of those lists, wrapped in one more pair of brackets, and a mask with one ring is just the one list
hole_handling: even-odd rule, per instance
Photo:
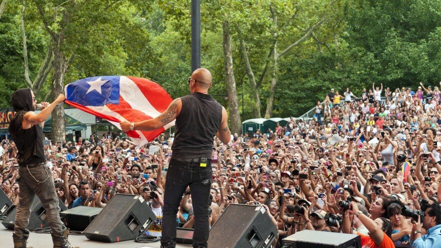
{"label": "slanted grille of the wedge speaker right of bald man's legs", "polygon": [[208,247],[234,247],[243,237],[261,206],[230,204],[210,230]]}

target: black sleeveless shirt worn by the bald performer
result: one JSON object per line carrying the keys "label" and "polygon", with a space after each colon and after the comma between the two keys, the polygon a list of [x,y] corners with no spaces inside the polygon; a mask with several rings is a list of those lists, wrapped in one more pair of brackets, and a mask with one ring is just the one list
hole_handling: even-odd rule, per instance
{"label": "black sleeveless shirt worn by the bald performer", "polygon": [[222,105],[211,95],[194,92],[181,97],[176,117],[172,158],[211,159],[213,138],[222,123]]}

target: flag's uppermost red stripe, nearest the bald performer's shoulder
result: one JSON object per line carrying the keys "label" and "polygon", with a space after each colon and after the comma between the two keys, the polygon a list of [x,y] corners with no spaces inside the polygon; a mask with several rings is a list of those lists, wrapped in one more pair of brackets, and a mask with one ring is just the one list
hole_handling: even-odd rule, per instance
{"label": "flag's uppermost red stripe, nearest the bald performer's shoulder", "polygon": [[168,93],[164,89],[162,89],[159,84],[145,78],[127,78],[132,80],[136,84],[136,86],[138,86],[139,90],[142,92],[145,98],[158,112],[165,112],[165,110],[167,110],[168,108],[168,105],[173,101],[170,95],[168,95]]}

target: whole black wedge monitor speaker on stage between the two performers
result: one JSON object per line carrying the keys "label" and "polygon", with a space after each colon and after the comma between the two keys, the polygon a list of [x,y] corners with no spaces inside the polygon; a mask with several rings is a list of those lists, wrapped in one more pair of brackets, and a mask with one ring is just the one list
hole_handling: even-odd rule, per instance
{"label": "whole black wedge monitor speaker on stage between the two performers", "polygon": [[155,213],[142,196],[116,194],[87,226],[84,235],[104,242],[133,240],[155,220]]}

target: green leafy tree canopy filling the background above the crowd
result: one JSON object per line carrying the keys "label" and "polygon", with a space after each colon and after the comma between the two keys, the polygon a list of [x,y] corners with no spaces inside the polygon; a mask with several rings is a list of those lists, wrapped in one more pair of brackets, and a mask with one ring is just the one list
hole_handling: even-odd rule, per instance
{"label": "green leafy tree canopy filling the background above the crowd", "polygon": [[[98,75],[144,77],[172,98],[188,94],[190,5],[1,1],[0,107],[40,79],[38,100],[53,100],[61,90],[55,82]],[[372,82],[434,85],[441,76],[440,9],[440,0],[202,1],[201,65],[213,75],[210,93],[240,114],[234,123],[299,116],[331,88],[351,87],[359,95]],[[48,56],[54,61],[45,67]],[[225,100],[231,94],[238,97]]]}

